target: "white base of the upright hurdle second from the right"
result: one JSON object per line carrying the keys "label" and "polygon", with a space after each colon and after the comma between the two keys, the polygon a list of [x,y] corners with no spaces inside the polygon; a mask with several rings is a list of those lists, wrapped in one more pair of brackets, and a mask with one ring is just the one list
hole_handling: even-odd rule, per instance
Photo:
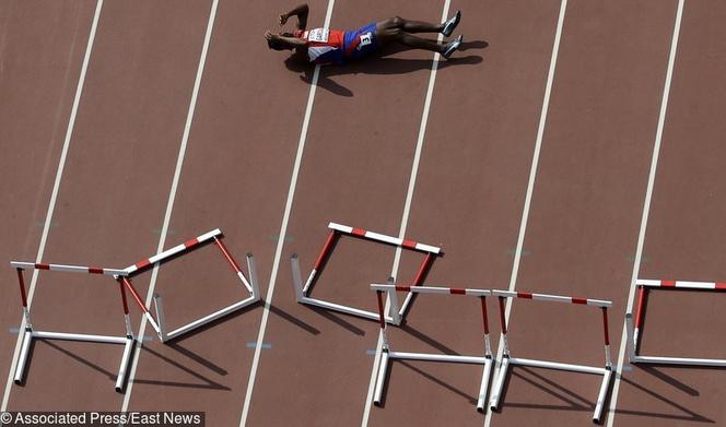
{"label": "white base of the upright hurdle second from the right", "polygon": [[579,373],[590,373],[590,375],[600,375],[602,376],[602,382],[600,383],[600,389],[598,391],[597,403],[595,405],[595,412],[593,414],[593,422],[599,423],[602,417],[602,408],[605,405],[605,399],[607,396],[608,389],[610,387],[610,380],[612,378],[612,369],[609,367],[598,368],[595,366],[585,366],[585,365],[574,365],[574,364],[562,364],[558,361],[549,360],[536,360],[536,359],[526,359],[526,358],[516,358],[511,356],[504,356],[502,364],[497,371],[496,381],[494,389],[492,390],[492,398],[489,403],[489,407],[492,411],[499,411],[501,405],[502,389],[504,388],[504,380],[508,373],[510,366],[529,366],[532,368],[543,368],[552,370],[565,370],[570,372],[579,372]]}

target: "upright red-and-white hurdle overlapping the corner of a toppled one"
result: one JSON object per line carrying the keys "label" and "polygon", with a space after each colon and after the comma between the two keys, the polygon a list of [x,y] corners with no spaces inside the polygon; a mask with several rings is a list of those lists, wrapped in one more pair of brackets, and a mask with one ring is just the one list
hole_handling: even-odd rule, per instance
{"label": "upright red-and-white hurdle overlapping the corner of a toppled one", "polygon": [[[371,289],[375,290],[378,300],[378,322],[380,323],[380,333],[383,336],[383,349],[380,352],[380,360],[378,365],[378,375],[376,377],[375,393],[373,395],[373,403],[376,406],[380,405],[383,399],[383,389],[386,381],[386,373],[390,360],[425,360],[425,361],[443,361],[443,363],[458,363],[458,364],[475,364],[483,365],[484,369],[481,376],[481,386],[479,387],[479,399],[477,400],[477,411],[484,411],[484,399],[487,398],[487,388],[489,386],[489,377],[492,370],[492,351],[489,341],[489,319],[487,316],[487,297],[491,295],[489,289],[469,289],[460,287],[441,287],[441,286],[397,286],[391,283],[386,285],[372,284]],[[390,342],[386,335],[386,324],[388,323],[384,310],[383,294],[388,294],[390,300],[391,311],[398,309],[397,292],[406,292],[411,294],[440,294],[440,295],[465,295],[479,298],[481,301],[481,317],[484,328],[484,355],[483,356],[462,356],[462,355],[447,355],[447,354],[428,354],[428,353],[408,353],[395,352],[390,348]]]}

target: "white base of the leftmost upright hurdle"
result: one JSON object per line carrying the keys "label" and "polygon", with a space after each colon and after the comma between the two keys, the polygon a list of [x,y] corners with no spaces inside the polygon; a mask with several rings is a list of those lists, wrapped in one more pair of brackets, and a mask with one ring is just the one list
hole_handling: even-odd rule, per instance
{"label": "white base of the leftmost upright hurdle", "polygon": [[21,353],[15,367],[14,382],[17,386],[23,383],[25,367],[27,365],[27,356],[33,340],[60,340],[60,341],[79,341],[86,343],[102,343],[102,344],[124,344],[124,355],[118,369],[118,376],[114,389],[117,392],[124,391],[124,383],[126,381],[129,364],[131,361],[131,353],[136,340],[133,335],[127,336],[109,336],[109,335],[93,335],[83,333],[66,333],[66,332],[50,332],[50,331],[34,331],[27,328],[24,332]]}

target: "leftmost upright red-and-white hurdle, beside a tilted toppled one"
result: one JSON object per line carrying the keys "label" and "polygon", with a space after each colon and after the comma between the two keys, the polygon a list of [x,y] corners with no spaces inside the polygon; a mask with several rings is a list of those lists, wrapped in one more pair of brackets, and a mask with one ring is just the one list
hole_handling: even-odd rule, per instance
{"label": "leftmost upright red-and-white hurdle, beside a tilted toppled one", "polygon": [[[81,342],[102,343],[102,344],[122,344],[124,354],[121,356],[121,364],[118,368],[118,375],[116,376],[116,383],[114,386],[115,390],[120,393],[124,390],[124,383],[126,381],[129,368],[129,361],[131,360],[131,352],[133,349],[133,342],[134,342],[133,332],[131,330],[131,321],[129,319],[129,307],[126,300],[126,292],[122,283],[122,281],[126,278],[127,275],[126,271],[118,269],[105,269],[101,266],[48,264],[39,262],[19,262],[19,261],[11,261],[10,265],[14,268],[15,271],[17,272],[20,296],[21,296],[21,303],[23,305],[23,319],[25,320],[25,330],[21,331],[23,337],[21,343],[21,352],[17,355],[14,382],[16,384],[23,383],[26,370],[25,368],[27,365],[27,356],[33,340],[63,340],[63,341],[81,341]],[[25,278],[23,276],[23,272],[25,270],[46,270],[46,271],[59,271],[68,273],[98,274],[98,275],[113,276],[118,282],[119,290],[121,294],[121,304],[124,307],[124,320],[126,323],[126,336],[92,335],[83,333],[50,332],[50,331],[35,330],[33,323],[31,322],[31,310],[27,306]]]}

